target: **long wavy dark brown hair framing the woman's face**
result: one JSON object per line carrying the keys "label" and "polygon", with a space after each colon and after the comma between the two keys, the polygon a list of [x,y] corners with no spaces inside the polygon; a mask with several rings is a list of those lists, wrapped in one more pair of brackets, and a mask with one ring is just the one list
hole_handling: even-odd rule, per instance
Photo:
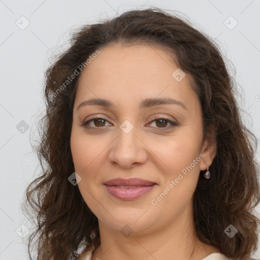
{"label": "long wavy dark brown hair framing the woman's face", "polygon": [[[235,99],[237,84],[214,41],[185,18],[148,8],[80,27],[73,34],[71,47],[46,71],[47,109],[39,125],[37,150],[43,172],[27,187],[24,206],[37,220],[37,229],[29,236],[30,259],[36,238],[38,260],[76,259],[80,250],[100,245],[98,219],[78,186],[68,181],[75,171],[70,136],[79,76],[58,94],[55,91],[96,50],[140,43],[171,51],[178,67],[192,77],[192,89],[203,111],[204,137],[210,127],[216,133],[211,178],[207,180],[201,173],[193,196],[197,237],[233,259],[245,259],[257,249],[260,220],[254,207],[260,194],[256,138],[242,121]],[[230,224],[238,230],[233,238],[224,233]]]}

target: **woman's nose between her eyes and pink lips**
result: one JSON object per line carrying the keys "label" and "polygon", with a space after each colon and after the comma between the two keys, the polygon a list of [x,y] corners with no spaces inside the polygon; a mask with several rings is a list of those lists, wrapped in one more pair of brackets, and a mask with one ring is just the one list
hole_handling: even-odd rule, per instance
{"label": "woman's nose between her eyes and pink lips", "polygon": [[141,141],[135,127],[128,134],[118,129],[118,137],[110,146],[108,159],[121,168],[132,168],[147,160],[146,145]]}

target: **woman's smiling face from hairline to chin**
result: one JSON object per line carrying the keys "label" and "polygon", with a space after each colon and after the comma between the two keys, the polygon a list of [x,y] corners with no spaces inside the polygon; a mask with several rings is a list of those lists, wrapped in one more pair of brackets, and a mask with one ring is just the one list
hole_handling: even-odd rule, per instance
{"label": "woman's smiling face from hairline to chin", "polygon": [[73,111],[84,201],[111,231],[144,234],[189,221],[199,173],[212,162],[189,76],[155,46],[100,51],[82,71]]}

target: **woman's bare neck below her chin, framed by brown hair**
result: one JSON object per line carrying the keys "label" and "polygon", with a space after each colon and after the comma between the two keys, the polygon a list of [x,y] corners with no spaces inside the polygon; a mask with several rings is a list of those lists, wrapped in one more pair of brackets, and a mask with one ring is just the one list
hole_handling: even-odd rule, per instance
{"label": "woman's bare neck below her chin, framed by brown hair", "polygon": [[199,241],[188,213],[192,211],[183,212],[174,221],[162,223],[157,230],[150,228],[134,232],[129,237],[99,221],[101,245],[94,251],[92,259],[200,260],[218,252],[217,248]]}

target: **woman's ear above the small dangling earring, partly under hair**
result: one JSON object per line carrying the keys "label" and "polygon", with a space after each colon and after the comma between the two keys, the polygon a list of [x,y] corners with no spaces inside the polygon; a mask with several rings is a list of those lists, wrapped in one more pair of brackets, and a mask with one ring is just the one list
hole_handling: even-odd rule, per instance
{"label": "woman's ear above the small dangling earring, partly under hair", "polygon": [[202,144],[201,153],[204,155],[200,162],[200,170],[205,171],[207,167],[210,167],[213,159],[216,156],[217,143],[216,143],[216,133],[213,125],[208,126],[206,132],[206,138]]}

